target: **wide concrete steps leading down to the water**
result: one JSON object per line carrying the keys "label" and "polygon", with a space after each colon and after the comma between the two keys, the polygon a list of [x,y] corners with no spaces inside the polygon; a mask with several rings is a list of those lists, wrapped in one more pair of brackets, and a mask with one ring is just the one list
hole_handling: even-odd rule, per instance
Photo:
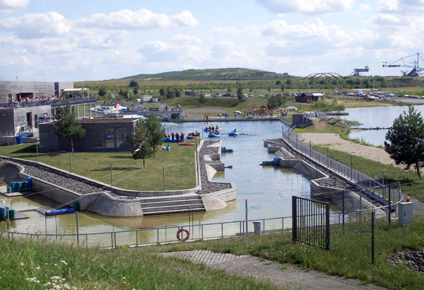
{"label": "wide concrete steps leading down to the water", "polygon": [[144,216],[155,214],[179,214],[190,211],[206,211],[201,197],[196,194],[143,197],[140,199]]}

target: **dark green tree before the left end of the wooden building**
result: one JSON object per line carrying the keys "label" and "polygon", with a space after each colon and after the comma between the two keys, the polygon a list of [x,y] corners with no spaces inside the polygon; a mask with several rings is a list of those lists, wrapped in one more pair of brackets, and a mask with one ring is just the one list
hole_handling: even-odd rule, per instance
{"label": "dark green tree before the left end of the wooden building", "polygon": [[75,122],[76,115],[71,112],[69,102],[66,106],[57,109],[57,118],[53,127],[56,129],[56,134],[61,139],[68,139],[71,141],[71,151],[73,153],[73,139],[81,139],[86,136],[86,130],[81,125]]}

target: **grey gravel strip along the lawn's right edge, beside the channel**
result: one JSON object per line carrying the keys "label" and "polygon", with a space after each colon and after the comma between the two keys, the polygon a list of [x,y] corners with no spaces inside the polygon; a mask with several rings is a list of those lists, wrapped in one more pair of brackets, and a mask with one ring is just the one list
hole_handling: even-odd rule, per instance
{"label": "grey gravel strip along the lawn's right edge, beside the channel", "polygon": [[220,163],[221,161],[205,161],[204,156],[208,154],[218,153],[218,146],[211,146],[218,143],[219,141],[204,141],[203,146],[199,151],[199,166],[200,166],[200,178],[201,178],[201,195],[206,195],[207,193],[217,192],[219,190],[226,190],[231,188],[230,183],[223,182],[211,182],[208,180],[208,173],[206,173],[206,164],[211,163]]}

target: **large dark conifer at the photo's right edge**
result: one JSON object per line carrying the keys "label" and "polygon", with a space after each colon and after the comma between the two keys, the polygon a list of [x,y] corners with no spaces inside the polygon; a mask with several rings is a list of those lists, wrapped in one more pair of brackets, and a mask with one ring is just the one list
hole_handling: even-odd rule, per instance
{"label": "large dark conifer at the photo's right edge", "polygon": [[408,112],[399,115],[386,134],[384,149],[396,164],[408,170],[414,166],[421,179],[420,167],[424,166],[424,120],[420,112],[409,106]]}

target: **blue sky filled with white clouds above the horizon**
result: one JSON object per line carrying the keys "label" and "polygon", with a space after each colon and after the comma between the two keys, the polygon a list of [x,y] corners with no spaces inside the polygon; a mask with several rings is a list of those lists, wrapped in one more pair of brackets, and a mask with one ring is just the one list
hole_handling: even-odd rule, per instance
{"label": "blue sky filled with white clouds above the horizon", "polygon": [[400,76],[408,68],[382,64],[424,53],[423,11],[424,0],[0,0],[0,81],[226,67]]}

